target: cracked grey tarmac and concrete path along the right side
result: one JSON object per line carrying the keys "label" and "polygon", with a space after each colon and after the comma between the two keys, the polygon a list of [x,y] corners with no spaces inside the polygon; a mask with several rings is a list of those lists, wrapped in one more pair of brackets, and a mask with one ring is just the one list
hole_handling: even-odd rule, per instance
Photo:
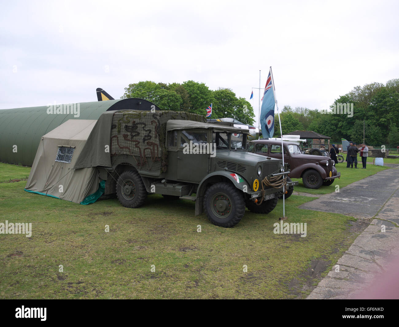
{"label": "cracked grey tarmac and concrete path along the right side", "polygon": [[[393,267],[399,262],[399,165],[387,166],[395,168],[299,206],[371,220],[308,299],[367,298],[367,290],[378,280],[389,273],[397,276]],[[399,293],[394,296],[399,298]]]}

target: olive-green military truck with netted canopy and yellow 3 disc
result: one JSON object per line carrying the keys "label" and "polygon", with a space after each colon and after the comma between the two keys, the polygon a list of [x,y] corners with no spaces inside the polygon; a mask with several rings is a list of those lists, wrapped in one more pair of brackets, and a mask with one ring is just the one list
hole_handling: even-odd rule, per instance
{"label": "olive-green military truck with netted canopy and yellow 3 disc", "polygon": [[[289,171],[282,160],[248,153],[247,133],[192,113],[106,112],[90,135],[96,142],[85,145],[91,163],[75,166],[97,166],[106,181],[105,195],[116,193],[125,207],[140,207],[148,194],[162,194],[195,201],[196,215],[205,211],[213,224],[233,227],[245,207],[267,214],[277,205],[279,192],[298,184],[286,185]],[[101,160],[107,139],[109,158]]]}

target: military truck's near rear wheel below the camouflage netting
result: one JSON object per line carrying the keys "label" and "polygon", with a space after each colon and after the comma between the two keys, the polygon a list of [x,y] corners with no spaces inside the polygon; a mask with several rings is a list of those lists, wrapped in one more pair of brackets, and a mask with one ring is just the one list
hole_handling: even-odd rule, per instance
{"label": "military truck's near rear wheel below the camouflage netting", "polygon": [[117,182],[117,196],[122,206],[138,208],[147,197],[144,183],[135,170],[126,170],[120,174]]}

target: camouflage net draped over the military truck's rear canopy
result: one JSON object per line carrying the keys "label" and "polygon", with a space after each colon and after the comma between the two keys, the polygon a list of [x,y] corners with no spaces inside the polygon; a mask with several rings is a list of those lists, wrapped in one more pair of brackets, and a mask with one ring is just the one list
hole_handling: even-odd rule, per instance
{"label": "camouflage net draped over the military truck's rear canopy", "polygon": [[133,156],[140,169],[165,172],[168,166],[166,123],[170,119],[206,123],[204,116],[176,111],[120,110],[113,115],[111,158]]}

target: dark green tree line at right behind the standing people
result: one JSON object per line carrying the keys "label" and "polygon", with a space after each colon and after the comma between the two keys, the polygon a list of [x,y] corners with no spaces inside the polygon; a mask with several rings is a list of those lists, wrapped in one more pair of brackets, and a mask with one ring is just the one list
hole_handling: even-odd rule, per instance
{"label": "dark green tree line at right behind the standing people", "polygon": [[[353,115],[284,106],[280,113],[282,133],[314,131],[339,142],[341,138],[369,145],[399,145],[399,79],[357,86],[336,99],[335,104],[353,103]],[[339,111],[338,111],[339,112]],[[350,117],[352,116],[352,117]],[[280,135],[279,117],[275,116],[275,135]]]}

